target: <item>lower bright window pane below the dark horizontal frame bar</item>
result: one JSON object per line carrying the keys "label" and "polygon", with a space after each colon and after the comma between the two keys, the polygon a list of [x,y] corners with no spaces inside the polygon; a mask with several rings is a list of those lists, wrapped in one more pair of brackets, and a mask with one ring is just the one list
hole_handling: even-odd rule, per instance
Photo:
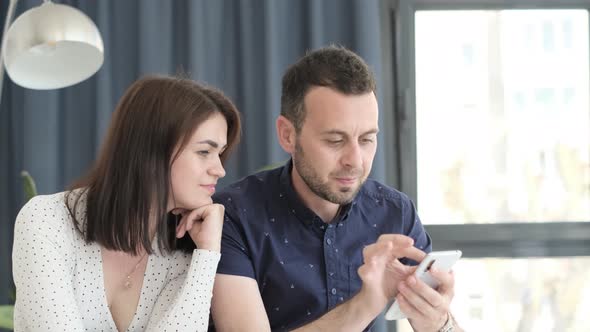
{"label": "lower bright window pane below the dark horizontal frame bar", "polygon": [[462,259],[451,310],[466,331],[587,331],[588,266],[589,258]]}

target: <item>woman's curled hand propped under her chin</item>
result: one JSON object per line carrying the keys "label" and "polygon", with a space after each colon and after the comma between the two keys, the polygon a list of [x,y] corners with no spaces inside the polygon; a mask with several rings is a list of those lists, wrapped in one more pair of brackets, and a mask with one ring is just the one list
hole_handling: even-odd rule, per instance
{"label": "woman's curled hand propped under her chin", "polygon": [[176,237],[181,238],[188,232],[197,248],[220,252],[224,213],[225,207],[221,204],[207,204],[181,212]]}

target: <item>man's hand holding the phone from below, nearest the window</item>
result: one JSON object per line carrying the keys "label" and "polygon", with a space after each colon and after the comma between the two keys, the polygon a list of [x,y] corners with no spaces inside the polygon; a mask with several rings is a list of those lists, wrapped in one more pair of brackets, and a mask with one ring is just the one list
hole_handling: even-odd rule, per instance
{"label": "man's hand holding the phone from below, nearest the window", "polygon": [[449,319],[449,306],[454,296],[455,278],[452,272],[430,269],[430,275],[438,280],[438,288],[432,289],[422,280],[410,275],[398,286],[397,301],[408,317],[414,331],[436,332]]}

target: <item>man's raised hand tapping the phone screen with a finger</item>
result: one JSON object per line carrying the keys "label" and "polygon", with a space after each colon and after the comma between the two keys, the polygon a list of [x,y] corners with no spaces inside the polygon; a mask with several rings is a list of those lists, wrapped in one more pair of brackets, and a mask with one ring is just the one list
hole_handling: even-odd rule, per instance
{"label": "man's raised hand tapping the phone screen with a finger", "polygon": [[358,296],[377,314],[393,300],[398,284],[416,269],[403,265],[399,258],[407,257],[419,262],[426,256],[413,244],[414,240],[410,237],[386,234],[363,250],[364,264],[358,270],[363,285]]}

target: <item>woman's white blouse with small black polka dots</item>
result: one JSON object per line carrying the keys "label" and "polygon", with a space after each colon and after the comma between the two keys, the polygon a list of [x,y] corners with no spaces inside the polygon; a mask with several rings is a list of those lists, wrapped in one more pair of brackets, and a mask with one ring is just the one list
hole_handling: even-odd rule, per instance
{"label": "woman's white blouse with small black polka dots", "polygon": [[[200,249],[150,255],[127,331],[206,331],[219,258]],[[36,196],[22,208],[12,261],[15,331],[117,331],[100,247],[76,232],[65,193]]]}

